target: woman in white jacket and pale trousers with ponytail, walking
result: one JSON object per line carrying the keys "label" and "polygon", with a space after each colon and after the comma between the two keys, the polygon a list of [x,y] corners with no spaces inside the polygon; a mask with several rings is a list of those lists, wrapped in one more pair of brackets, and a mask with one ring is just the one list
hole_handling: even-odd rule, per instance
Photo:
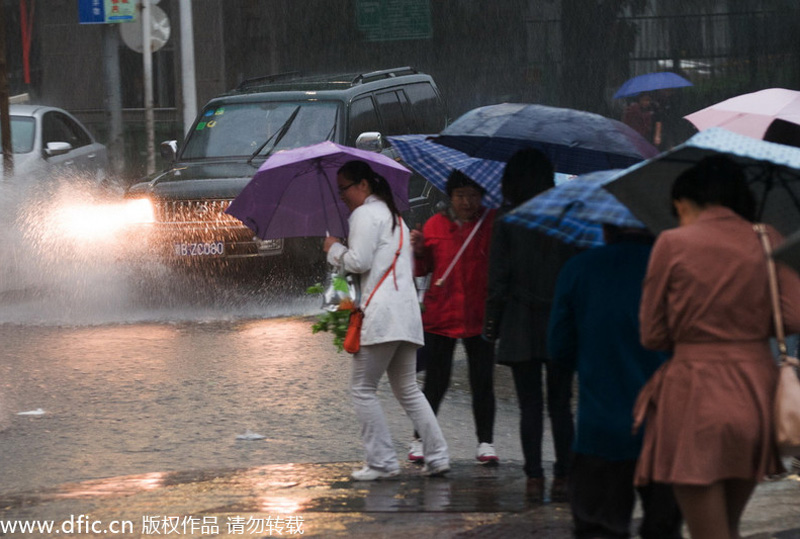
{"label": "woman in white jacket and pale trousers with ponytail, walking", "polygon": [[[416,350],[423,344],[422,317],[412,271],[408,227],[403,223],[386,179],[364,161],[339,169],[339,196],[352,212],[347,247],[326,238],[328,262],[360,276],[364,310],[361,350],[353,356],[351,394],[361,423],[366,466],[354,471],[357,481],[374,481],[400,473],[392,436],[377,396],[385,372],[392,392],[424,440],[425,472],[450,471],[447,443],[433,410],[417,385]],[[395,253],[401,247],[395,262]]]}

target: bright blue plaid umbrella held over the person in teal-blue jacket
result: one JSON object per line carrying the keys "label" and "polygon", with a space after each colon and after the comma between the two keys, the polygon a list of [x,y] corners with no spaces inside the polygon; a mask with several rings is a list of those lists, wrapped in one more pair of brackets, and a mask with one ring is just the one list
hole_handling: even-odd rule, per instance
{"label": "bright blue plaid umbrella held over the person in teal-blue jacket", "polygon": [[548,189],[503,219],[578,247],[603,245],[603,225],[645,228],[644,223],[603,189],[622,171],[590,172]]}

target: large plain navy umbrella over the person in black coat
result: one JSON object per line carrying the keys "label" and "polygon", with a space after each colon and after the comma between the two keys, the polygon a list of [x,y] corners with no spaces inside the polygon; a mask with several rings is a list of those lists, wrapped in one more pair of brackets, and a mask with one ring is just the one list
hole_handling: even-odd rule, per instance
{"label": "large plain navy umbrella over the person in black coat", "polygon": [[565,174],[627,168],[658,154],[655,146],[617,120],[521,103],[473,109],[431,140],[495,161],[508,161],[518,150],[535,148]]}

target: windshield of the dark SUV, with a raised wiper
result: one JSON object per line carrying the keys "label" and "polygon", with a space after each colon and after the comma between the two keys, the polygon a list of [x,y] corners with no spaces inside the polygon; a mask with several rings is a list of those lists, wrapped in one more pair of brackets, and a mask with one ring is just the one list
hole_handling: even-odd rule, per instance
{"label": "windshield of the dark SUV, with a raised wiper", "polygon": [[[338,107],[331,101],[273,101],[210,107],[203,111],[181,157],[249,158],[259,147],[262,148],[260,153],[264,154],[330,140]],[[295,111],[297,115],[290,122]],[[273,147],[281,128],[286,132]]]}

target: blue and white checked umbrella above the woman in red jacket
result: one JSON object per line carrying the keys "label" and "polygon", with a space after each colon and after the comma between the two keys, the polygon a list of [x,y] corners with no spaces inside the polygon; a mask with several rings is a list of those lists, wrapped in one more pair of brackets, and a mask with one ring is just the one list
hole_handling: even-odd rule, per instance
{"label": "blue and white checked umbrella above the woman in red jacket", "polygon": [[400,158],[441,192],[447,177],[458,170],[486,189],[483,205],[497,208],[503,202],[500,182],[506,164],[502,161],[470,157],[458,150],[436,144],[429,135],[387,137]]}

